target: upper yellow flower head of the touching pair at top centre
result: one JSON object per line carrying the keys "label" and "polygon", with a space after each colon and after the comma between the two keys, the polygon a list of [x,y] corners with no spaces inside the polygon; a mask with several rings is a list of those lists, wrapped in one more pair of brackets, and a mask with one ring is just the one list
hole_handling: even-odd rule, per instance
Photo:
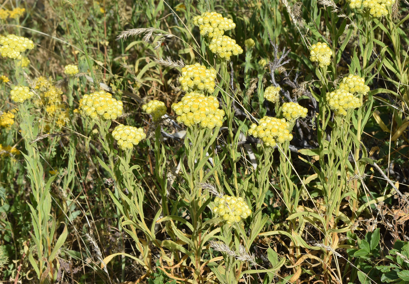
{"label": "upper yellow flower head of the touching pair at top centre", "polygon": [[199,27],[200,35],[208,38],[222,36],[225,31],[236,27],[232,19],[225,18],[216,12],[204,12],[201,16],[194,17],[193,25]]}

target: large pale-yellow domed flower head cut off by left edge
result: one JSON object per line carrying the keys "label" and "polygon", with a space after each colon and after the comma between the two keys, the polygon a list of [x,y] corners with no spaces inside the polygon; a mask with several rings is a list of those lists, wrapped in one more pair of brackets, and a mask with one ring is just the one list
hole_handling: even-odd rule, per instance
{"label": "large pale-yellow domed flower head cut off by left edge", "polygon": [[1,56],[11,59],[21,59],[21,52],[34,48],[33,41],[22,36],[16,36],[15,34],[0,36],[0,45]]}

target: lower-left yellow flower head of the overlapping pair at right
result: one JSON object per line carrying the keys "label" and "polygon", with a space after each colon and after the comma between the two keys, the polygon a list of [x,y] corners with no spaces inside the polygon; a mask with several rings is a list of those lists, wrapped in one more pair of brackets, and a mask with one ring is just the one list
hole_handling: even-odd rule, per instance
{"label": "lower-left yellow flower head of the overlapping pair at right", "polygon": [[346,115],[346,110],[350,108],[362,106],[359,98],[354,97],[350,92],[343,89],[327,92],[326,101],[330,108],[340,115]]}

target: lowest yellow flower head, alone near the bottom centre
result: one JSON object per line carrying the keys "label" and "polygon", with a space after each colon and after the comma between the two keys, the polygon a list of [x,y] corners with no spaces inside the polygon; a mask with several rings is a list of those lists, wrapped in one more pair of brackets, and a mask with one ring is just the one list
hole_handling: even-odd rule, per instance
{"label": "lowest yellow flower head, alone near the bottom centre", "polygon": [[213,208],[213,213],[222,217],[229,225],[240,222],[241,219],[246,219],[252,213],[243,197],[224,195],[216,197],[214,203],[216,203],[216,206]]}

